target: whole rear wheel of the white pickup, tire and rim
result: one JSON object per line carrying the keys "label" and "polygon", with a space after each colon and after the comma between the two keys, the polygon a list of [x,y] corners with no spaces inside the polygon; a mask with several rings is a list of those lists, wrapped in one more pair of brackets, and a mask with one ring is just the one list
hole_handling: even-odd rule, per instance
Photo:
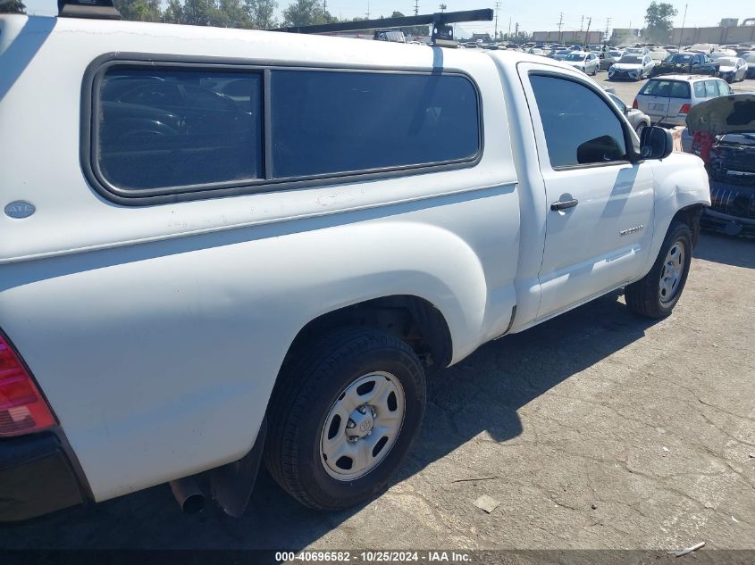
{"label": "whole rear wheel of the white pickup, tire and rim", "polygon": [[264,461],[298,502],[334,511],[364,502],[398,469],[422,423],[421,361],[380,331],[341,330],[281,370]]}

